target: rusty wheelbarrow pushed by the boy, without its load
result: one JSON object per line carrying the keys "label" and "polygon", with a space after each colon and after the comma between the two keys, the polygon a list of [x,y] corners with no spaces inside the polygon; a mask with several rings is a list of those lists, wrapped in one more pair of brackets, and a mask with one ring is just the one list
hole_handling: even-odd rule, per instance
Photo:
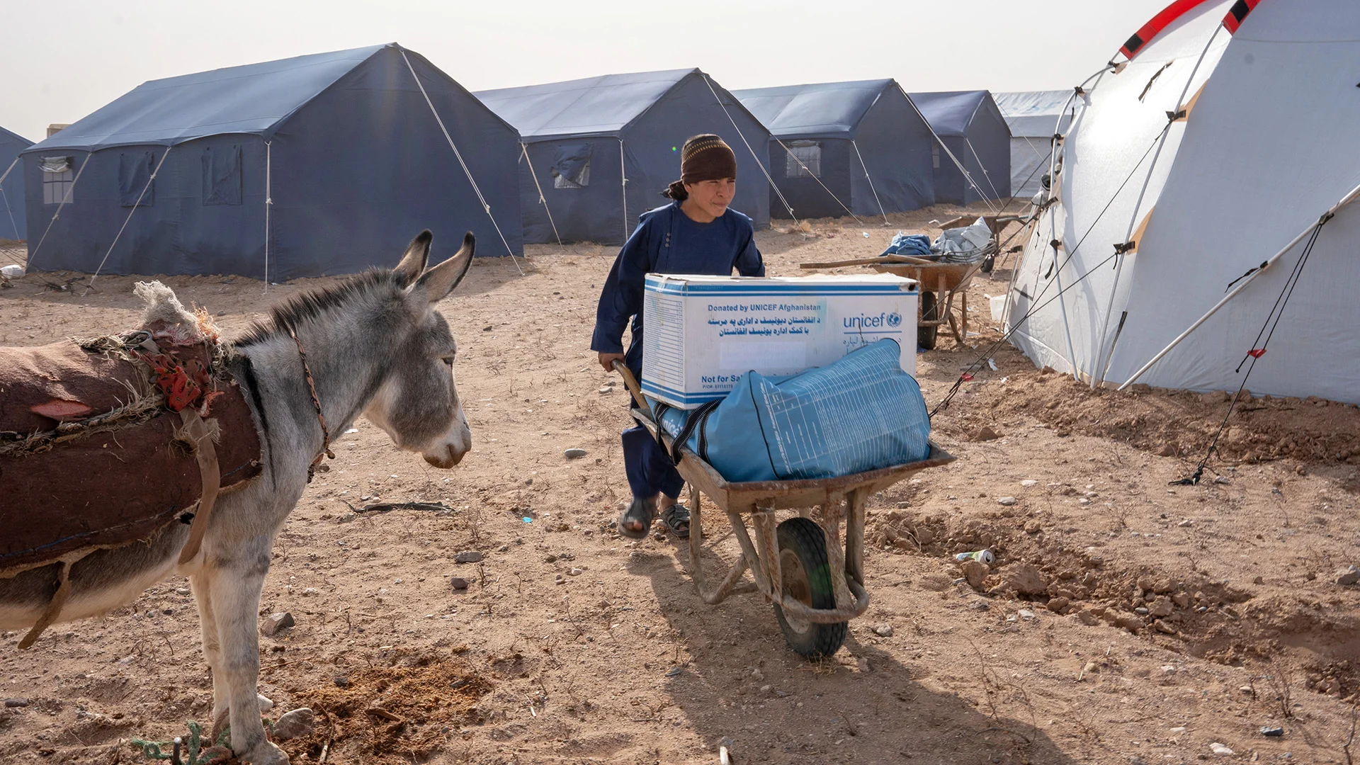
{"label": "rusty wheelbarrow pushed by the boy, without its load", "polygon": [[[634,418],[656,436],[658,426],[638,381],[623,363],[615,362],[613,368],[639,407],[632,410]],[[664,430],[661,437],[669,448],[672,438]],[[850,619],[869,608],[864,587],[869,497],[953,460],[930,444],[926,459],[883,470],[840,478],[729,483],[713,466],[681,448],[676,470],[690,485],[690,579],[710,606],[738,592],[759,592],[774,606],[779,630],[794,652],[813,660],[831,656],[845,642]],[[726,513],[741,546],[741,555],[713,587],[702,561],[704,495]],[[748,570],[755,581],[745,579]]]}

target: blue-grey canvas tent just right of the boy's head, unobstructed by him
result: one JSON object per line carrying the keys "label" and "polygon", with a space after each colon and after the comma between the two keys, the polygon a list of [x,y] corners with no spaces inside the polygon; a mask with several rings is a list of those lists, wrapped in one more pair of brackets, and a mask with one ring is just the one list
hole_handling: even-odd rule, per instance
{"label": "blue-grey canvas tent just right of the boy's head, unobstructed by him", "polygon": [[[770,174],[796,215],[881,215],[934,204],[930,127],[896,80],[733,91],[770,128]],[[782,204],[771,200],[779,215]]]}

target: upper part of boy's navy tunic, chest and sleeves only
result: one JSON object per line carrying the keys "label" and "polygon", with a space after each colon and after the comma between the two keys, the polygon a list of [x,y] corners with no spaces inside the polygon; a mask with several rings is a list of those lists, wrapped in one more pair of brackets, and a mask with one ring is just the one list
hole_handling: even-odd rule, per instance
{"label": "upper part of boy's navy tunic, chest and sleeves only", "polygon": [[624,363],[638,377],[642,370],[642,293],[647,274],[702,274],[764,276],[751,218],[728,208],[711,223],[695,223],[670,203],[643,212],[636,230],[619,250],[596,308],[590,350],[623,353],[623,329],[632,321],[632,342]]}

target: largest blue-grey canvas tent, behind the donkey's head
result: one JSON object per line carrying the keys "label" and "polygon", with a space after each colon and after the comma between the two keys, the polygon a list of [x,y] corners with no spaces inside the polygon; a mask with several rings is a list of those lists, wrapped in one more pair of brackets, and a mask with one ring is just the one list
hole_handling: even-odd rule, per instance
{"label": "largest blue-grey canvas tent, behind the donkey's head", "polygon": [[449,253],[466,230],[479,255],[520,253],[518,152],[396,44],[152,80],[24,151],[30,268],[351,274],[422,229]]}

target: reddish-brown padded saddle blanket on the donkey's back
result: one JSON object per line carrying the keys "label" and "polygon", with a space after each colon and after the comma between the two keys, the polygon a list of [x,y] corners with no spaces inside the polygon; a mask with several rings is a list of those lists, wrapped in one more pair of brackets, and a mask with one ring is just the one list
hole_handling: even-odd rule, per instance
{"label": "reddish-brown padded saddle blanket on the donkey's back", "polygon": [[[203,346],[197,355],[207,362]],[[260,437],[235,381],[219,373],[209,387],[216,395],[200,399],[203,417],[218,432],[227,487],[260,474]],[[188,523],[180,516],[199,501],[203,478],[192,448],[177,436],[181,417],[158,406],[101,422],[154,393],[146,365],[118,354],[69,340],[0,347],[0,572],[146,539],[177,519]],[[16,448],[58,427],[78,436]]]}

